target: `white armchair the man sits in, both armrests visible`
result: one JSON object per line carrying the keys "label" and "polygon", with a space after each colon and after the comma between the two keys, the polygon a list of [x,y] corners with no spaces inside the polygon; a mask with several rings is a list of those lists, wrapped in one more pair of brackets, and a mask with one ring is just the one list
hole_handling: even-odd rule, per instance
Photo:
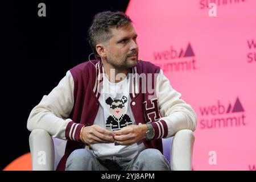
{"label": "white armchair the man sits in, both armrests visible", "polygon": [[[163,139],[163,154],[170,162],[172,171],[191,170],[193,143],[191,130],[177,131],[174,137]],[[55,170],[64,155],[66,140],[52,138],[47,131],[33,130],[29,138],[32,170]]]}

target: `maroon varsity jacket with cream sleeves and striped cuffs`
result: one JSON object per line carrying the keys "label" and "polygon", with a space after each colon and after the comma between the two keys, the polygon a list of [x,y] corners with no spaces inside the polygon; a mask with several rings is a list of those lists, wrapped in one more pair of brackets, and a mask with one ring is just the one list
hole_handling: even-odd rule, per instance
{"label": "maroon varsity jacket with cream sleeves and striped cuffs", "polygon": [[[28,130],[44,129],[52,137],[67,140],[65,154],[57,170],[65,169],[72,151],[85,147],[79,139],[80,130],[82,126],[93,125],[100,106],[98,98],[102,90],[103,65],[100,60],[92,63],[86,61],[70,69],[59,84],[43,96],[28,117]],[[153,140],[143,140],[147,148],[163,152],[162,138],[172,137],[181,129],[196,129],[195,111],[172,88],[162,69],[138,60],[129,74],[132,76],[130,107],[135,122],[137,125],[150,122],[155,130]],[[151,89],[145,89],[148,85]]]}

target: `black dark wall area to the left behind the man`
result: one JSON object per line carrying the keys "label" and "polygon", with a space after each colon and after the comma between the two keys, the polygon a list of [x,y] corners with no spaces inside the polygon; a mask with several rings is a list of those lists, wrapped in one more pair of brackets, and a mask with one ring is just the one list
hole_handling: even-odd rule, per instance
{"label": "black dark wall area to the left behind the man", "polygon": [[[46,4],[46,17],[38,4]],[[92,52],[87,30],[93,16],[104,10],[125,11],[129,0],[13,1],[9,55],[3,60],[4,97],[1,166],[29,152],[27,118],[68,69],[88,60]],[[9,52],[8,51],[8,52]]]}

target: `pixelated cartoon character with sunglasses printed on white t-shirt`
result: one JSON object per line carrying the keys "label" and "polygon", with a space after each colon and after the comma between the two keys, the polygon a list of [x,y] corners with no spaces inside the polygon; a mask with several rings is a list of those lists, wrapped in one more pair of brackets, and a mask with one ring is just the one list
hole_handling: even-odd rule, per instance
{"label": "pixelated cartoon character with sunglasses printed on white t-shirt", "polygon": [[108,104],[109,112],[112,114],[108,117],[106,121],[106,129],[109,130],[120,130],[122,127],[131,125],[133,122],[129,115],[125,114],[125,103],[127,102],[127,97],[122,96],[121,99],[113,100],[111,97],[106,99],[106,104]]}

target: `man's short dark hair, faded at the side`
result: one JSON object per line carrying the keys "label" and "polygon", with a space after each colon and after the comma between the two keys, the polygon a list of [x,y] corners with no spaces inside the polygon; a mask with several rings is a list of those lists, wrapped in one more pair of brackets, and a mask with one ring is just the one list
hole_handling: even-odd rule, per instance
{"label": "man's short dark hair, faded at the side", "polygon": [[92,24],[88,30],[88,42],[96,59],[98,58],[98,53],[96,51],[97,43],[106,42],[112,37],[109,29],[113,27],[123,27],[131,22],[129,16],[122,11],[103,11],[94,16]]}

